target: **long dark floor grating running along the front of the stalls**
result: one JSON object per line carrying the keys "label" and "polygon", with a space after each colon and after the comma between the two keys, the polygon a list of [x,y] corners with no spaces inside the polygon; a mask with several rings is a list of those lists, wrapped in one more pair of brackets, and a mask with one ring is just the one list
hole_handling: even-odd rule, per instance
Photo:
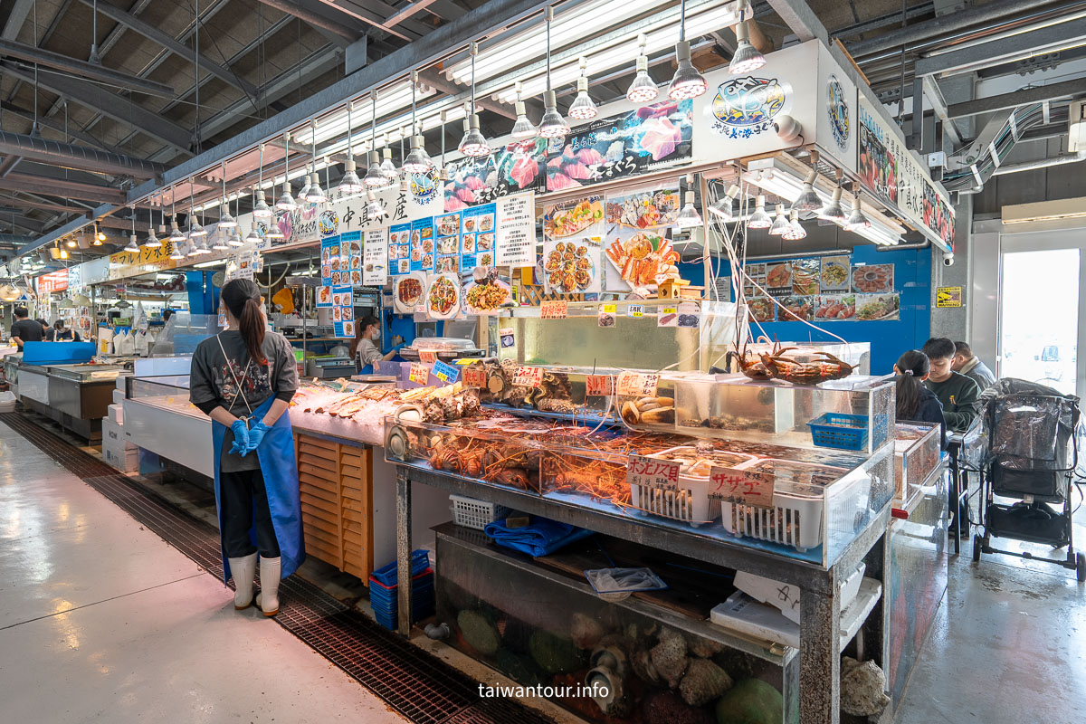
{"label": "long dark floor grating running along the front of the stalls", "polygon": [[[17,412],[0,414],[0,422],[222,579],[218,531],[214,528],[174,508],[153,492]],[[281,626],[412,722],[552,722],[517,701],[480,697],[476,681],[298,576],[285,580],[279,590],[280,608],[276,621]]]}

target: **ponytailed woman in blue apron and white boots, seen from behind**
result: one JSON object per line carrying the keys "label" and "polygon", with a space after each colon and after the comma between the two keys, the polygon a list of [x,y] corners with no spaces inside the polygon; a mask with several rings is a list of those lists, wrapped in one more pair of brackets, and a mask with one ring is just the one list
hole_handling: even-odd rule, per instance
{"label": "ponytailed woman in blue apron and white boots, seen from behind", "polygon": [[264,615],[279,612],[279,581],[305,558],[294,436],[287,414],[298,390],[290,343],[267,331],[260,288],[223,288],[228,329],[192,355],[189,398],[212,419],[215,503],[223,580],[233,576],[233,607],[253,602],[257,557]]}

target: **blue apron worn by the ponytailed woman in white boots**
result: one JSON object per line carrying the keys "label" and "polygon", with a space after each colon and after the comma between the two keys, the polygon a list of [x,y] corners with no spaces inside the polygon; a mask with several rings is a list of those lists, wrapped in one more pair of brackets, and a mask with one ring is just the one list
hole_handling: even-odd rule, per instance
{"label": "blue apron worn by the ponytailed woman in white boots", "polygon": [[[268,397],[263,405],[253,410],[253,417],[263,420],[275,397]],[[223,459],[223,440],[226,437],[226,425],[212,420],[212,448],[215,450],[215,507],[218,510],[218,530],[223,530],[223,503],[219,496],[219,467]],[[250,453],[252,455],[252,453]],[[299,493],[298,460],[294,458],[294,432],[290,427],[290,411],[283,412],[276,423],[265,433],[261,446],[256,448],[261,460],[261,472],[264,473],[264,487],[268,494],[268,508],[272,510],[272,526],[275,529],[276,542],[279,544],[281,557],[280,577],[298,570],[305,560],[305,543],[302,541],[302,501]],[[222,533],[220,533],[222,535]],[[256,544],[255,525],[249,529],[249,539]],[[222,547],[222,537],[219,546]],[[223,582],[230,580],[230,562],[223,552]]]}

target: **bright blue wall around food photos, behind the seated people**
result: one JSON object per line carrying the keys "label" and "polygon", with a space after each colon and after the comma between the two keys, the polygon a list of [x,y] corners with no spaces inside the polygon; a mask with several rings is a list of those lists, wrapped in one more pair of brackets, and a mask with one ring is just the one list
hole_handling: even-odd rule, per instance
{"label": "bright blue wall around food photos, behind the seated people", "polygon": [[[842,250],[841,253],[847,253]],[[803,258],[797,253],[796,258]],[[931,249],[908,249],[904,251],[876,251],[872,244],[861,244],[851,251],[851,262],[866,264],[893,264],[894,290],[900,293],[900,319],[894,321],[839,320],[812,322],[849,342],[871,343],[871,373],[887,374],[894,363],[906,350],[919,348],[931,334]],[[775,261],[775,259],[774,259]],[[731,264],[721,261],[718,274],[731,275]],[[698,283],[702,279],[700,264],[682,264],[680,272],[684,279]],[[773,321],[761,325],[768,334],[782,342],[835,342],[798,321]]]}

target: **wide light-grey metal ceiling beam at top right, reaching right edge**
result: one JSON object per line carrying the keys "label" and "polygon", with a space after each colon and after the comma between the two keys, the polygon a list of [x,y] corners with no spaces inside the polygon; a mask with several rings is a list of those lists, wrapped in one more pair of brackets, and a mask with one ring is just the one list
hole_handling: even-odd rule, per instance
{"label": "wide light-grey metal ceiling beam at top right, reaching right edge", "polygon": [[950,76],[1045,52],[1086,45],[1086,17],[917,59],[915,74]]}

